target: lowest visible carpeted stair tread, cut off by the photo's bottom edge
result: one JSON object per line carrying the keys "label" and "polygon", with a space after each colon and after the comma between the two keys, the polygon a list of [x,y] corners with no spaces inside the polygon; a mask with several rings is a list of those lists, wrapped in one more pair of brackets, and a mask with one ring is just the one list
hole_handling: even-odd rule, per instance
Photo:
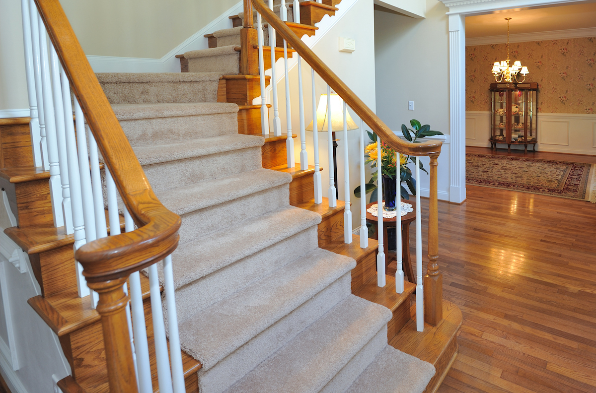
{"label": "lowest visible carpeted stair tread, cut off by the photo's bottom edge", "polygon": [[434,366],[387,345],[346,393],[422,393]]}

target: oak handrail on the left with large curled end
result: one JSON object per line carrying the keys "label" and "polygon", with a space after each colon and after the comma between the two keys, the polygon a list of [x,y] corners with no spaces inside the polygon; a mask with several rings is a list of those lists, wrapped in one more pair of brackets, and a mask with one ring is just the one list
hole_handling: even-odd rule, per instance
{"label": "oak handrail on the left with large curled end", "polygon": [[35,0],[60,63],[105,165],[138,229],[89,242],[77,249],[88,282],[125,277],[162,260],[178,245],[181,219],[153,193],[79,40],[58,0]]}

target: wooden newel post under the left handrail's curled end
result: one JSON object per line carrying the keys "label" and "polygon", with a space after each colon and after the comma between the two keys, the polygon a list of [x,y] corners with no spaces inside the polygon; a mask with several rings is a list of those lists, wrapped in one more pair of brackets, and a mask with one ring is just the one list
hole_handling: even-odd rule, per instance
{"label": "wooden newel post under the left handrail's curled end", "polygon": [[101,315],[104,332],[105,361],[107,363],[110,393],[136,393],[136,375],[132,362],[131,338],[126,322],[128,298],[122,286],[126,278],[107,282],[88,282],[98,292],[97,312]]}

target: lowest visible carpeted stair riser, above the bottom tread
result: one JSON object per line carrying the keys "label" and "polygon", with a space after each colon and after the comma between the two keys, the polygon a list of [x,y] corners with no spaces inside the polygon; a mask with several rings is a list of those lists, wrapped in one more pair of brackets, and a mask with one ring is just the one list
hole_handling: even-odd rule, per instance
{"label": "lowest visible carpeted stair riser, above the bottom tread", "polygon": [[[364,371],[371,361],[387,346],[387,326],[367,342],[367,344],[337,373],[333,379],[321,389],[320,393],[344,392],[358,376]],[[399,372],[399,370],[395,370]]]}

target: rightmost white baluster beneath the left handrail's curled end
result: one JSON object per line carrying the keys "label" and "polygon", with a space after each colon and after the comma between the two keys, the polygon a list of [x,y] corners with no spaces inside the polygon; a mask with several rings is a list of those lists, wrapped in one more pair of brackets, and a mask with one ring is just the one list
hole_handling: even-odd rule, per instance
{"label": "rightmost white baluster beneath the left handrail's curled end", "polygon": [[166,292],[167,326],[170,339],[170,362],[172,363],[172,378],[174,393],[184,393],[184,369],[182,368],[182,352],[180,350],[180,336],[178,333],[178,315],[176,314],[176,297],[174,295],[174,273],[172,269],[172,255],[163,260],[164,291]]}

